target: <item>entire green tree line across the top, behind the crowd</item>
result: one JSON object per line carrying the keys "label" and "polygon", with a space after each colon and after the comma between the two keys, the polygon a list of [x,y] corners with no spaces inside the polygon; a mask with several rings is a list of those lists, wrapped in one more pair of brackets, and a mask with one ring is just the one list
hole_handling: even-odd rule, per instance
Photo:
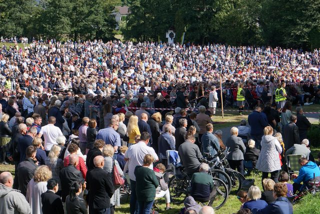
{"label": "entire green tree line across the top, behind the crowd", "polygon": [[123,4],[126,40],[166,41],[170,29],[179,43],[320,47],[318,0],[0,0],[0,35],[113,39]]}

